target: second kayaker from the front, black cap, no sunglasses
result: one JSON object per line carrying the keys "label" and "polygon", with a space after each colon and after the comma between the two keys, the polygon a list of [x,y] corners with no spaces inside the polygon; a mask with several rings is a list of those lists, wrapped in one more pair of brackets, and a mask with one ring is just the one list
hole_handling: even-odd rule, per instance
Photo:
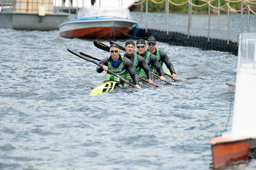
{"label": "second kayaker from the front, black cap, no sunglasses", "polygon": [[132,40],[128,40],[125,42],[125,54],[124,56],[130,59],[131,63],[133,63],[133,67],[138,76],[140,76],[140,71],[143,69],[147,75],[148,84],[154,84],[152,81],[151,70],[145,62],[145,59],[142,56],[139,56],[136,53],[133,53],[135,49],[135,43]]}

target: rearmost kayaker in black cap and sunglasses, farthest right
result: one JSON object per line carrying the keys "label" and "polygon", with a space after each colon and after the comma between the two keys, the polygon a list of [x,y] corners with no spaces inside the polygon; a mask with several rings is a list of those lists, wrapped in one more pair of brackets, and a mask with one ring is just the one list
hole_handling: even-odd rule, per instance
{"label": "rearmost kayaker in black cap and sunglasses, farthest right", "polygon": [[147,44],[148,44],[147,51],[154,54],[157,57],[157,60],[161,67],[163,66],[163,63],[165,63],[166,67],[170,70],[171,75],[173,76],[172,79],[174,81],[177,81],[176,73],[169,57],[166,55],[166,53],[164,53],[164,51],[155,48],[155,46],[157,45],[155,37],[152,37],[152,36],[148,37]]}

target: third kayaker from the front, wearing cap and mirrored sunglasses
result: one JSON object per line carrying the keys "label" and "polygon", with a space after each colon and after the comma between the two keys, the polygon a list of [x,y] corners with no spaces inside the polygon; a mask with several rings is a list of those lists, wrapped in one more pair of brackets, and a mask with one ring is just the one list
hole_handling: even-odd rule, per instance
{"label": "third kayaker from the front, wearing cap and mirrored sunglasses", "polygon": [[[142,56],[145,59],[149,69],[151,71],[156,69],[157,73],[160,76],[160,80],[165,81],[166,78],[164,77],[164,70],[159,65],[159,62],[157,61],[156,56],[146,51],[146,48],[147,48],[146,41],[143,39],[138,39],[136,42],[136,46],[138,49],[137,54]],[[140,73],[144,73],[144,71],[141,70]]]}

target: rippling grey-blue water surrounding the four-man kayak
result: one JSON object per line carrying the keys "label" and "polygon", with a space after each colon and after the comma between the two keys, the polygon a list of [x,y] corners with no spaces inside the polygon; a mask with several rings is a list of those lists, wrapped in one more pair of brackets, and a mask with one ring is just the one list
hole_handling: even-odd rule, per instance
{"label": "rippling grey-blue water surrounding the four-man kayak", "polygon": [[[66,49],[109,56],[93,41],[58,31],[0,35],[0,169],[212,167],[208,142],[227,124],[233,93],[225,83],[234,82],[237,56],[159,42],[180,87],[155,81],[159,88],[90,96],[104,73]],[[253,169],[256,161],[235,168]]]}

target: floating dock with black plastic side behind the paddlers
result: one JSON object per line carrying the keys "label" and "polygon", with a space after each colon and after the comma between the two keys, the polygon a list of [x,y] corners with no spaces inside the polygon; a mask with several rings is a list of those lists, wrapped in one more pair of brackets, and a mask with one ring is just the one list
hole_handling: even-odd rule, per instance
{"label": "floating dock with black plastic side behind the paddlers", "polygon": [[187,27],[184,26],[170,26],[171,30],[167,35],[166,26],[154,25],[148,26],[147,32],[145,29],[145,23],[139,23],[138,37],[149,37],[154,36],[157,41],[167,42],[168,44],[185,46],[185,47],[195,47],[203,50],[215,50],[229,52],[234,55],[238,55],[238,43],[232,40],[237,38],[236,34],[231,34],[229,42],[227,42],[227,31],[222,30],[211,30],[212,34],[210,39],[208,39],[207,29],[190,28],[190,35],[186,33],[188,31]]}

